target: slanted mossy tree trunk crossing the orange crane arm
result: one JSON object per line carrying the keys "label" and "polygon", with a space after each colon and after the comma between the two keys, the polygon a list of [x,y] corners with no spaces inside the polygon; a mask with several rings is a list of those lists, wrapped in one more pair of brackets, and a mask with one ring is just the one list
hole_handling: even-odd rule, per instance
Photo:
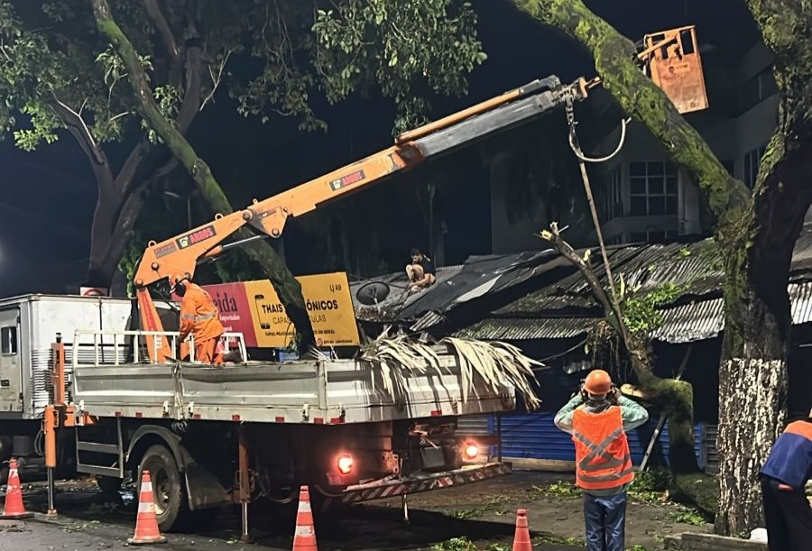
{"label": "slanted mossy tree trunk crossing the orange crane arm", "polygon": [[[127,68],[127,78],[133,87],[134,96],[138,105],[140,115],[148,121],[152,128],[169,147],[171,152],[178,158],[180,163],[189,171],[189,174],[198,184],[198,188],[208,205],[217,213],[227,215],[234,212],[234,208],[228,202],[223,188],[220,187],[217,179],[208,168],[208,164],[200,159],[186,138],[178,129],[167,120],[152,97],[152,87],[143,72],[141,63],[134,50],[132,43],[127,39],[125,33],[115,23],[110,12],[110,6],[106,0],[92,0],[93,12],[99,30],[113,44],[115,50],[125,62]],[[240,238],[250,237],[252,234],[247,230],[240,230],[237,236]],[[302,344],[308,348],[315,343],[313,328],[305,301],[301,294],[301,285],[288,267],[282,262],[279,255],[273,248],[265,242],[250,242],[246,244],[245,251],[254,262],[259,263],[276,289],[277,294],[284,305],[288,316],[291,317],[293,326],[296,327]]]}

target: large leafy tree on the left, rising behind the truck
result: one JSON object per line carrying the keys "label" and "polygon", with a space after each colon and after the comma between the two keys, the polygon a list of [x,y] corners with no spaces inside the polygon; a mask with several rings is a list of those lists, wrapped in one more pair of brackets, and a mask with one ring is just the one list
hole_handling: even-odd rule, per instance
{"label": "large leafy tree on the left, rising behind the truck", "polygon": [[[291,115],[302,130],[323,129],[311,106],[314,96],[336,102],[377,89],[397,106],[399,128],[419,121],[432,96],[465,92],[466,73],[484,60],[475,16],[457,0],[110,4],[138,52],[145,74],[140,87],[131,86],[133,71],[97,30],[88,0],[0,0],[0,93],[6,98],[0,125],[23,150],[68,130],[85,152],[97,180],[88,283],[103,287],[146,197],[183,159],[163,147],[144,106],[156,106],[164,130],[181,137],[203,109],[212,108],[235,109],[263,123]],[[207,170],[193,177],[212,212],[230,211]],[[299,285],[279,256],[267,243],[252,243],[249,254],[291,314],[301,312],[296,325],[309,334]]]}

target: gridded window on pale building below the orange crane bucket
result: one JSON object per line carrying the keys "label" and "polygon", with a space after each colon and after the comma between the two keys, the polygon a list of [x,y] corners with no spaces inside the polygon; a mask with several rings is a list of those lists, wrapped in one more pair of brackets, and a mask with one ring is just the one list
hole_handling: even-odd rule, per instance
{"label": "gridded window on pale building below the orange crane bucket", "polygon": [[667,161],[629,164],[631,216],[662,216],[677,213],[677,165]]}

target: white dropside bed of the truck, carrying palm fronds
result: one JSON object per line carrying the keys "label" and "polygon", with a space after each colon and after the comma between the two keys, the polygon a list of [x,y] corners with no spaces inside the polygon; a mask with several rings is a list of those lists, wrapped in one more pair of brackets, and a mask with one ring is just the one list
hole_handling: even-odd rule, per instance
{"label": "white dropside bed of the truck, carrying palm fronds", "polygon": [[208,419],[261,423],[368,423],[458,416],[515,407],[514,389],[475,377],[463,401],[456,358],[442,375],[402,372],[402,390],[356,360],[245,363],[119,364],[74,367],[72,401],[97,417]]}

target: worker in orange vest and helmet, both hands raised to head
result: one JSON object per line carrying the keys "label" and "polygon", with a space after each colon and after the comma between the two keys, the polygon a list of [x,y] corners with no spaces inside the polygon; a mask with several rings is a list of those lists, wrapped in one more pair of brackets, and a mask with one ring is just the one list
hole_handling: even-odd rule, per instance
{"label": "worker in orange vest and helmet, both hands raised to head", "polygon": [[621,395],[601,369],[589,372],[577,395],[556,414],[556,426],[571,434],[576,446],[588,551],[625,548],[626,491],[634,479],[626,431],[648,419],[646,409]]}

